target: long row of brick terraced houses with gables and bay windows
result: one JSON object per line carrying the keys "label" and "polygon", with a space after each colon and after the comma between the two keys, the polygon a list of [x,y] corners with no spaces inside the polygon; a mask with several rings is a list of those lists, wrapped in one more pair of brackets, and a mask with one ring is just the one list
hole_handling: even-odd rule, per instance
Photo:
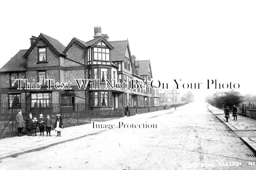
{"label": "long row of brick terraced houses with gables and bay windows", "polygon": [[[21,103],[29,103],[31,109],[48,108],[52,103],[62,103],[72,109],[75,103],[85,103],[91,110],[106,110],[132,106],[158,105],[158,92],[149,88],[152,79],[150,61],[139,61],[131,55],[128,40],[109,41],[107,34],[101,34],[101,28],[95,27],[94,39],[82,41],[73,38],[67,46],[58,40],[39,34],[30,38],[29,49],[20,50],[2,68],[0,68],[0,102],[7,102],[10,108],[19,108]],[[22,81],[17,89],[15,79]],[[47,89],[45,79],[55,82],[70,81],[70,89]],[[75,79],[99,79],[99,89],[89,86],[79,89]],[[105,79],[117,82],[129,82],[128,89],[105,89]],[[146,90],[131,90],[131,79],[146,83]],[[40,89],[28,89],[36,87]],[[52,82],[53,83],[53,82]],[[72,89],[71,89],[72,88]]]}

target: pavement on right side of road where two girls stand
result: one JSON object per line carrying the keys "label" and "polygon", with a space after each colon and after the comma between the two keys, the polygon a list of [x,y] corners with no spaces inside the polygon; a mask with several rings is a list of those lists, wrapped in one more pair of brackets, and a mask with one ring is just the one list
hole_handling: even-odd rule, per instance
{"label": "pavement on right side of road where two girls stand", "polygon": [[216,115],[216,117],[227,125],[243,142],[256,153],[256,119],[237,116],[237,120],[233,120],[232,114],[229,122],[226,122],[224,111],[210,104],[206,104],[208,110]]}

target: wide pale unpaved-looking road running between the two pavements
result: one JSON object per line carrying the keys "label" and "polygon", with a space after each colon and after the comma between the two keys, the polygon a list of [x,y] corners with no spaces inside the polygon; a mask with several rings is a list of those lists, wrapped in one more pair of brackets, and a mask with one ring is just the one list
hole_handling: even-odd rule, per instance
{"label": "wide pale unpaved-looking road running between the two pavements", "polygon": [[[118,123],[117,119],[115,124]],[[253,163],[256,158],[246,156],[254,153],[211,114],[204,103],[189,104],[176,112],[151,118],[133,116],[123,123],[144,123],[157,128],[109,129],[17,158],[3,159],[0,169],[256,169]],[[248,166],[250,161],[252,165]]]}

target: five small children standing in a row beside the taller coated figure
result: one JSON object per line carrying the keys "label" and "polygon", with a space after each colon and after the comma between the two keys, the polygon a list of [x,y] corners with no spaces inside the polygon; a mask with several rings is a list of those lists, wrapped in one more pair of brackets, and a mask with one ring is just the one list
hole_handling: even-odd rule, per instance
{"label": "five small children standing in a row beside the taller coated figure", "polygon": [[[63,127],[62,118],[60,114],[56,114],[56,121],[54,123],[55,131],[57,131],[57,136],[61,136],[61,131]],[[48,114],[46,118],[43,117],[43,114],[39,114],[39,118],[33,117],[32,113],[29,113],[29,118],[26,120],[26,130],[27,136],[37,136],[37,126],[39,127],[40,135],[44,136],[44,131],[46,129],[46,136],[51,136],[51,127],[52,120],[50,119],[50,115]],[[49,135],[48,135],[49,134]]]}

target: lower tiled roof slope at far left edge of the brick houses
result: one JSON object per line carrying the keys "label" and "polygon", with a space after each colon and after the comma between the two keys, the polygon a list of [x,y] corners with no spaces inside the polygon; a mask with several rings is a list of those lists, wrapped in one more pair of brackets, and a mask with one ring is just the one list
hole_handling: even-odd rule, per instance
{"label": "lower tiled roof slope at far left edge of the brick houses", "polygon": [[27,50],[20,50],[1,69],[0,72],[26,70],[26,59],[23,57]]}

